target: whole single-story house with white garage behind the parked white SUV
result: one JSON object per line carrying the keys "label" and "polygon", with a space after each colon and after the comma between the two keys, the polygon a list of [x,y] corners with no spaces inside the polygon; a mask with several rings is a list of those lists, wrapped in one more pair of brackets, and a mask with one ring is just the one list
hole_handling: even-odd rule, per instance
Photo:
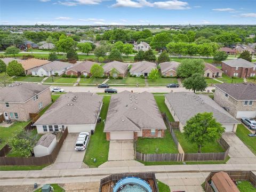
{"label": "whole single-story house with white garage behind the parked white SUV", "polygon": [[38,133],[64,131],[69,133],[95,130],[102,107],[102,96],[88,92],[62,94],[34,123]]}

